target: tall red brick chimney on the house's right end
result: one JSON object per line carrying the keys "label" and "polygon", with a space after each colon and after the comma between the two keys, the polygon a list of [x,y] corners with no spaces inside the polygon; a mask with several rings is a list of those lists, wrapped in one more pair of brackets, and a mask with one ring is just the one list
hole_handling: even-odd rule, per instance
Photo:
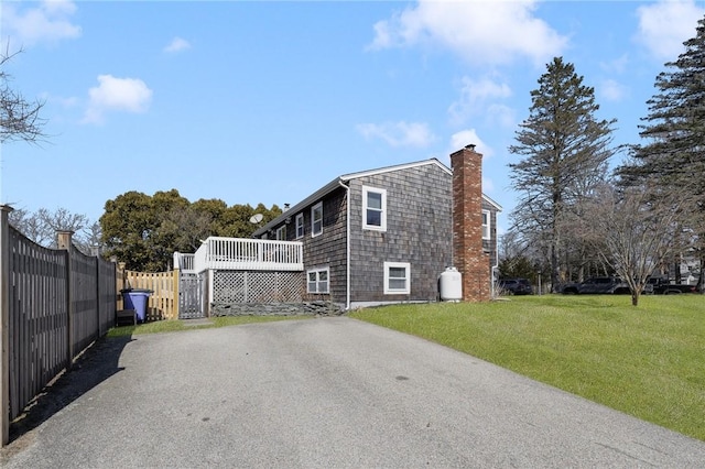
{"label": "tall red brick chimney on the house's right end", "polygon": [[470,144],[451,154],[453,263],[463,274],[463,299],[490,299],[489,253],[482,250],[482,155]]}

